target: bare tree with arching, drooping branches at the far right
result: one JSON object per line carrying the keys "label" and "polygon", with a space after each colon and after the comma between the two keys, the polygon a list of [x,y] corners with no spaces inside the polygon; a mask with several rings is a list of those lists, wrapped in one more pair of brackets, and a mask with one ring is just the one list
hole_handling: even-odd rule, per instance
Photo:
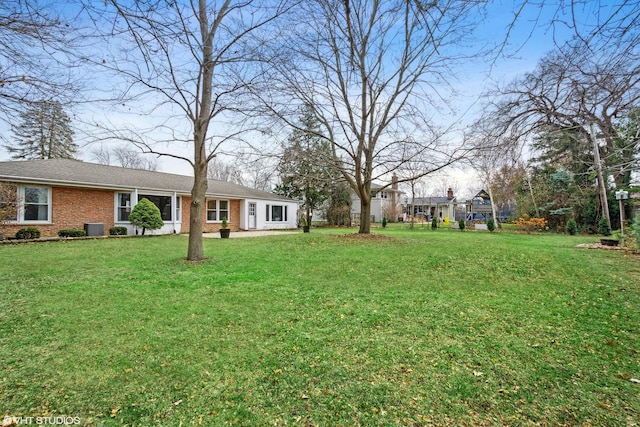
{"label": "bare tree with arching, drooping branches at the far right", "polygon": [[622,39],[608,45],[594,37],[576,38],[550,52],[535,71],[493,93],[500,101],[487,109],[485,120],[506,140],[557,132],[589,147],[608,220],[607,172],[622,175],[601,159],[615,158],[620,150],[633,153],[629,148],[637,145],[622,137],[619,124],[640,102],[640,49]]}

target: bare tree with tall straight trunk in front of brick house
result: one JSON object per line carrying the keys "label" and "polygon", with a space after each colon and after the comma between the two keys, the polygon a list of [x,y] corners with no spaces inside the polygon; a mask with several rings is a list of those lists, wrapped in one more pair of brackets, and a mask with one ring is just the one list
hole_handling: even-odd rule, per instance
{"label": "bare tree with tall straight trunk in front of brick house", "polygon": [[[208,164],[222,144],[245,131],[239,115],[254,71],[250,64],[261,36],[272,36],[263,30],[285,6],[267,0],[107,0],[104,7],[86,7],[96,29],[122,46],[97,62],[122,78],[123,104],[165,118],[151,132],[137,128],[112,136],[193,167],[187,259],[201,260]],[[161,131],[164,140],[153,136]],[[185,145],[192,155],[176,149]]]}

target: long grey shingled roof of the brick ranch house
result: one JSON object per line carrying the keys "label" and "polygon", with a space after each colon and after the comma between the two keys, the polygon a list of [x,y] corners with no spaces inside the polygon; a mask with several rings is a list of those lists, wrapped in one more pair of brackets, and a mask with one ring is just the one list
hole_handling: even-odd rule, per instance
{"label": "long grey shingled roof of the brick ranch house", "polygon": [[[113,190],[175,191],[184,195],[191,194],[193,187],[192,176],[106,166],[69,159],[0,162],[0,181]],[[266,191],[211,179],[207,196],[294,201]]]}

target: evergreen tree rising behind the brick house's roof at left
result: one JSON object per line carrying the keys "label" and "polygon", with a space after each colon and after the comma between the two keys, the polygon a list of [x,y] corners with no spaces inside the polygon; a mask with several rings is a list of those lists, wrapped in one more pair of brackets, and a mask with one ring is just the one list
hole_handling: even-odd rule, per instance
{"label": "evergreen tree rising behind the brick house's roof at left", "polygon": [[12,126],[15,144],[5,148],[14,159],[73,159],[78,145],[73,142],[71,119],[57,101],[40,101],[20,114],[21,123]]}

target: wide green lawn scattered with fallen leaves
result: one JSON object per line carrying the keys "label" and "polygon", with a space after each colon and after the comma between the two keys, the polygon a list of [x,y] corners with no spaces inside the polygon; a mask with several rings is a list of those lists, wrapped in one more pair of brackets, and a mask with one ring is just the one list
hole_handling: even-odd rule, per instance
{"label": "wide green lawn scattered with fallen leaves", "polygon": [[640,423],[638,255],[576,249],[584,236],[346,232],[210,239],[198,264],[185,236],[1,245],[0,417]]}

